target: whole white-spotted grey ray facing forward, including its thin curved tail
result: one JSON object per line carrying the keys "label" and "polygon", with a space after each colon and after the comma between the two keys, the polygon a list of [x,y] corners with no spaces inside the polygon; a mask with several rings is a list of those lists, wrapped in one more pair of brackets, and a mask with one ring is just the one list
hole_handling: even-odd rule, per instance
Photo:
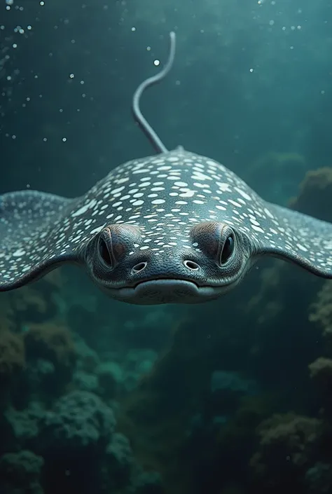
{"label": "whole white-spotted grey ray facing forward, including its thin curved tail", "polygon": [[78,263],[114,299],[199,303],[233,289],[259,257],[279,256],[332,277],[332,224],[265,202],[212,158],[167,151],[139,109],[157,154],[116,167],[81,198],[39,191],[0,196],[0,290]]}

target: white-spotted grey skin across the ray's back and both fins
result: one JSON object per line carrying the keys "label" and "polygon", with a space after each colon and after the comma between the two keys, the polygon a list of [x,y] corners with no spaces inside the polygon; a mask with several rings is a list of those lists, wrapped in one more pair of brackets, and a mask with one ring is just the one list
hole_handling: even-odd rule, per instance
{"label": "white-spotted grey skin across the ray's back and both fins", "polygon": [[81,198],[4,194],[0,212],[2,291],[59,263],[83,263],[85,246],[109,224],[138,227],[127,256],[148,254],[156,266],[177,249],[195,258],[192,228],[222,222],[248,239],[252,257],[277,255],[332,277],[331,224],[266,203],[223,165],[184,149],[120,165]]}

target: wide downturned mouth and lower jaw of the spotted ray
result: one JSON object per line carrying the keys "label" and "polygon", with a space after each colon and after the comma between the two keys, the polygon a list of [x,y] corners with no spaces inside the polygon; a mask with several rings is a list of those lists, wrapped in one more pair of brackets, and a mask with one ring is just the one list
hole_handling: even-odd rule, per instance
{"label": "wide downturned mouth and lower jaw of the spotted ray", "polygon": [[111,289],[114,298],[141,305],[200,303],[216,299],[219,294],[220,287],[203,287],[193,281],[166,278],[141,281],[134,287]]}

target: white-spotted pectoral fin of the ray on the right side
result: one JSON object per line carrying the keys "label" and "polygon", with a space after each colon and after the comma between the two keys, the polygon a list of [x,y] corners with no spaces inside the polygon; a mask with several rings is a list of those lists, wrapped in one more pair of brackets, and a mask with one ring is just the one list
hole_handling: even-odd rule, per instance
{"label": "white-spotted pectoral fin of the ray on the right side", "polygon": [[266,203],[270,226],[260,235],[258,254],[291,261],[317,276],[332,278],[332,224]]}

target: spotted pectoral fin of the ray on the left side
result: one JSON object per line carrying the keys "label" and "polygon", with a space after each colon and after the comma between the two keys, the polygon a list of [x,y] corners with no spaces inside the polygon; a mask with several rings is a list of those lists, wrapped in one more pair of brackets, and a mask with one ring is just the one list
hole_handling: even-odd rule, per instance
{"label": "spotted pectoral fin of the ray on the left side", "polygon": [[74,249],[53,238],[74,201],[39,191],[0,195],[0,291],[21,287],[61,263],[76,261]]}

